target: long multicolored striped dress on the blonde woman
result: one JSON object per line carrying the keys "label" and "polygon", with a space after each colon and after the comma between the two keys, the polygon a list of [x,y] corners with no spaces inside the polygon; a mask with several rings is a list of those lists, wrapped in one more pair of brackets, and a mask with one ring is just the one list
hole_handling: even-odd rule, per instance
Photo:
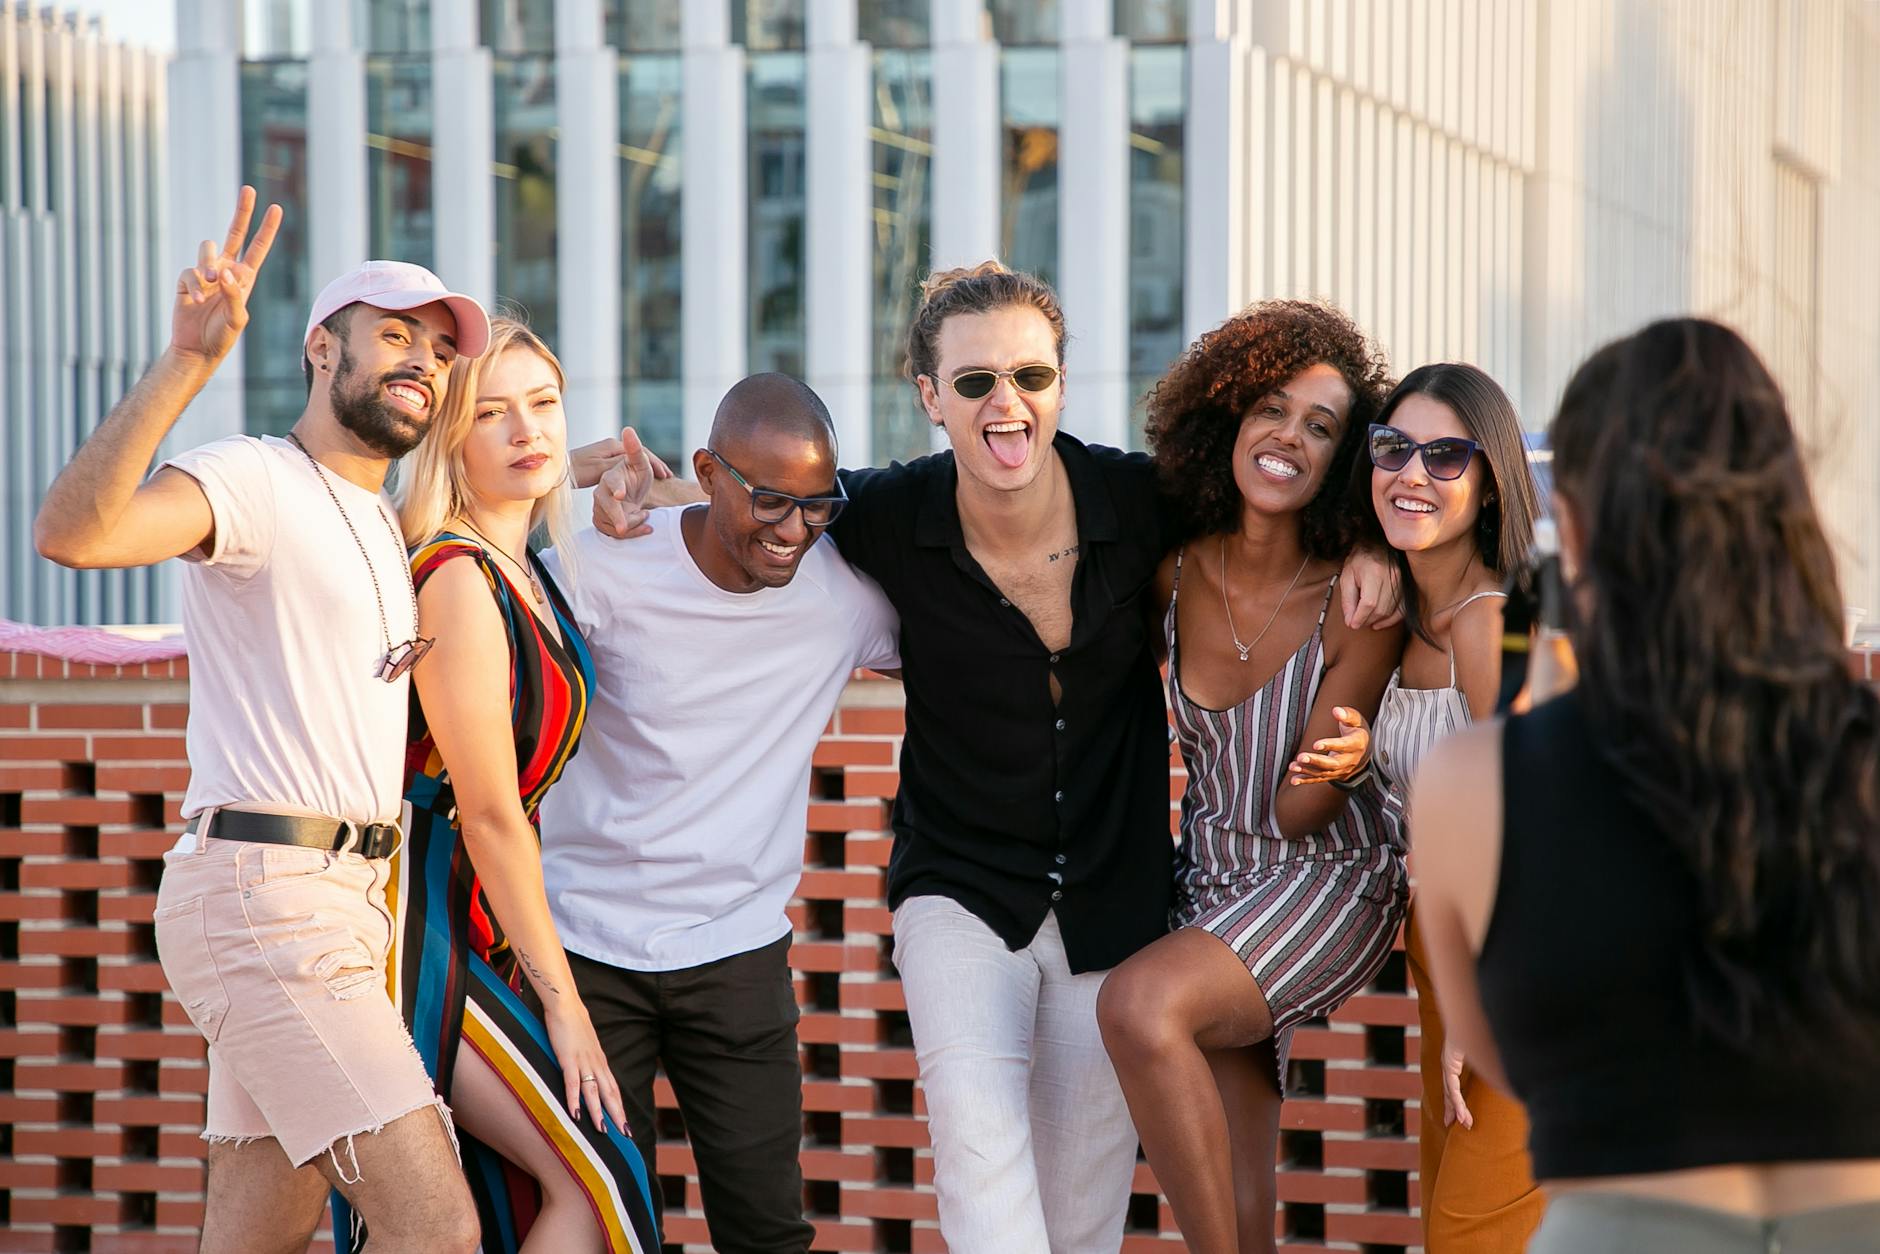
{"label": "long multicolored striped dress on the blonde woman", "polygon": [[[423,588],[438,568],[455,558],[474,560],[483,572],[509,634],[517,784],[523,810],[534,823],[536,807],[581,741],[594,662],[568,602],[534,553],[528,560],[549,594],[560,639],[543,630],[528,609],[526,594],[509,583],[476,540],[444,532],[419,545],[412,551],[412,581]],[[600,1130],[568,1115],[562,1068],[541,1019],[523,1004],[515,953],[459,837],[449,773],[431,739],[415,688],[404,767],[404,846],[391,859],[385,889],[399,921],[387,981],[438,1094],[451,1100],[457,1051],[474,1049],[581,1181],[609,1254],[658,1250],[650,1181],[634,1143],[611,1124]],[[540,1211],[536,1183],[476,1137],[459,1130],[457,1139],[483,1224],[483,1250],[509,1254],[528,1235]],[[361,1250],[363,1231],[344,1198],[335,1192],[333,1199],[333,1231],[352,1231],[350,1248]]]}

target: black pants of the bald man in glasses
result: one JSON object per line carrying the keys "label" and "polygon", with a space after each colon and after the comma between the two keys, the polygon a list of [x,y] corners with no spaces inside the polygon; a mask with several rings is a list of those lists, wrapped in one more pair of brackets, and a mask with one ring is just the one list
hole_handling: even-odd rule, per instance
{"label": "black pants of the bald man in glasses", "polygon": [[[816,1235],[803,1218],[803,1064],[788,955],[790,936],[667,972],[568,955],[649,1175],[652,1072],[666,1066],[722,1254],[801,1252]],[[652,1205],[664,1211],[658,1184]]]}

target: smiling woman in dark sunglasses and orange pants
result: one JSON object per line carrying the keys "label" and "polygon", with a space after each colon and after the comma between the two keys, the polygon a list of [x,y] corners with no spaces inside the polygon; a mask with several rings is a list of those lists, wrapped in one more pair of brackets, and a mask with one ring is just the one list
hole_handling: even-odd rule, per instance
{"label": "smiling woman in dark sunglasses and orange pants", "polygon": [[[1344,722],[1355,728],[1354,739],[1369,739],[1369,765],[1389,784],[1386,805],[1402,825],[1423,754],[1495,713],[1502,587],[1527,566],[1540,502],[1521,417],[1508,393],[1472,365],[1448,361],[1406,374],[1372,423],[1367,451],[1352,494],[1367,530],[1382,534],[1404,575],[1410,635],[1371,737],[1355,711]],[[1290,771],[1310,782],[1344,765],[1340,756],[1299,754]],[[1528,1169],[1527,1117],[1465,1070],[1463,1051],[1444,1038],[1414,895],[1406,949],[1421,1038],[1423,1245],[1431,1254],[1521,1250],[1545,1205]]]}

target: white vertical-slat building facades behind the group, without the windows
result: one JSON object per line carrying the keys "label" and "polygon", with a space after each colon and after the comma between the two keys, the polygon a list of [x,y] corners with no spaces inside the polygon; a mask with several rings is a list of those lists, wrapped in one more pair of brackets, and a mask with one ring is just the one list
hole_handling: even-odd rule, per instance
{"label": "white vertical-slat building facades behind the group, without the windows", "polygon": [[[620,318],[617,284],[602,280],[632,252],[609,235],[619,207],[609,211],[607,190],[609,118],[620,113],[613,53],[634,53],[600,43],[617,32],[590,34],[622,6],[553,8],[564,70],[560,348],[581,393],[577,423],[594,434],[613,427],[611,397],[634,384],[607,331]],[[1000,45],[987,0],[919,8],[934,102],[921,263],[972,261],[993,252],[1008,209],[998,203]],[[1130,346],[1134,297],[1122,276],[1132,235],[1145,227],[1183,235],[1175,308],[1188,338],[1254,299],[1325,297],[1352,310],[1399,370],[1446,357],[1481,365],[1534,429],[1596,344],[1649,318],[1709,314],[1739,325],[1788,389],[1848,600],[1880,615],[1880,4],[1188,0],[1175,36],[1184,39],[1175,45],[1183,188],[1179,207],[1154,201],[1166,224],[1132,216],[1126,203],[1137,137],[1111,98],[1128,90],[1120,68],[1137,47],[1124,34],[1128,8],[1058,4],[1058,274],[1073,374],[1102,376],[1105,393],[1070,417],[1073,429],[1089,417],[1085,434],[1128,434],[1113,376]],[[679,32],[669,51],[684,62],[684,400],[682,423],[671,425],[684,447],[667,449],[681,464],[746,361],[754,192],[733,9],[733,0],[675,0],[669,13]],[[164,62],[47,19],[38,4],[0,0],[8,617],[173,615],[158,575],[75,577],[38,562],[30,519],[75,440],[162,348],[165,276],[197,235],[220,227],[243,160],[241,11],[241,0],[179,0],[179,53],[165,75]],[[476,0],[429,6],[432,244],[453,284],[500,297],[481,11]],[[870,214],[880,212],[869,154],[885,143],[867,113],[880,86],[869,66],[880,49],[867,43],[869,9],[857,0],[805,0],[803,13],[812,66],[803,359],[842,423],[844,459],[861,464],[876,451],[867,363],[884,325],[869,282]],[[344,34],[348,24],[327,24],[312,49],[316,96],[335,102],[310,120],[308,186],[321,214],[335,214],[316,231],[321,271],[367,239],[361,149],[333,132],[335,115],[357,117],[367,32]],[[167,156],[165,86],[192,118],[192,143]],[[590,169],[596,162],[607,169]],[[312,274],[314,286],[327,276]],[[177,440],[239,429],[241,404],[241,361],[231,359]]]}

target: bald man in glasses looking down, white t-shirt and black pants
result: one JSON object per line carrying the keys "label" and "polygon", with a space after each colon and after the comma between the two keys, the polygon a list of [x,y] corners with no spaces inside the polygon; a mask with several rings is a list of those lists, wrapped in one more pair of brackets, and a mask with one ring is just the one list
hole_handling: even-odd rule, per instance
{"label": "bald man in glasses looking down, white t-shirt and black pants", "polygon": [[805,384],[731,387],[692,468],[705,504],[650,511],[643,540],[585,532],[572,562],[549,556],[575,568],[562,587],[598,684],[581,754],[541,807],[543,878],[641,1152],[652,1162],[664,1064],[713,1248],[807,1250],[784,908],[810,756],[854,669],[901,666],[899,622],[818,543],[848,498]]}

